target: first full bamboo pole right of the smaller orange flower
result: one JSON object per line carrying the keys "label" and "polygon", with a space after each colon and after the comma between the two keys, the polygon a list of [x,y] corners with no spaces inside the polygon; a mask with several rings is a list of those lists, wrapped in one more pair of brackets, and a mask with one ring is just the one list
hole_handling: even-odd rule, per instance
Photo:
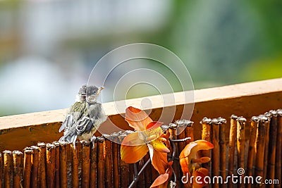
{"label": "first full bamboo pole right of the smaller orange flower", "polygon": [[[212,119],[212,144],[214,144],[214,149],[212,149],[212,175],[219,176],[219,120],[217,118]],[[214,182],[212,187],[219,187],[218,182]]]}

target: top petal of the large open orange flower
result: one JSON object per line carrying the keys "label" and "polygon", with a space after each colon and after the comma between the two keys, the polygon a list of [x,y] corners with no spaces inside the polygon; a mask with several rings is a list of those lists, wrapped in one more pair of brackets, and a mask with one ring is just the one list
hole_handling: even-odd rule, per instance
{"label": "top petal of the large open orange flower", "polygon": [[152,122],[149,115],[138,108],[129,106],[125,110],[125,120],[129,123],[130,127],[133,127],[137,131],[146,129],[146,126]]}

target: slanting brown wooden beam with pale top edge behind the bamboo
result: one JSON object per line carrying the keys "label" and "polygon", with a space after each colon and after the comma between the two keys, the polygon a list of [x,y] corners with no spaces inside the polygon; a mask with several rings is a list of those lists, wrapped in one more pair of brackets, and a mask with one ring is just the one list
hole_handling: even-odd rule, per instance
{"label": "slanting brown wooden beam with pale top edge behind the bamboo", "polygon": [[[235,114],[243,115],[248,120],[252,115],[282,108],[282,78],[195,90],[193,93],[194,108],[192,108],[192,100],[185,101],[185,94],[192,93],[174,93],[175,101],[165,106],[162,101],[164,96],[147,96],[146,98],[152,101],[150,117],[153,120],[159,120],[161,114],[166,111],[166,113],[173,114],[173,120],[178,120],[183,115],[183,108],[188,107],[192,110],[191,120],[195,122],[195,139],[200,139],[202,130],[200,120],[204,116],[209,118],[221,116],[229,120],[230,116]],[[139,107],[142,99],[129,99],[126,101],[126,106]],[[123,117],[124,104],[125,101],[103,104],[109,119],[101,125],[100,132],[111,133],[119,129],[129,129]],[[61,109],[0,117],[0,151],[4,149],[21,150],[37,142],[58,140],[62,136],[58,130],[65,114],[66,109]],[[183,117],[185,118],[185,114]],[[166,118],[162,120],[164,123],[170,123],[166,122]],[[227,130],[228,128],[226,127]]]}

